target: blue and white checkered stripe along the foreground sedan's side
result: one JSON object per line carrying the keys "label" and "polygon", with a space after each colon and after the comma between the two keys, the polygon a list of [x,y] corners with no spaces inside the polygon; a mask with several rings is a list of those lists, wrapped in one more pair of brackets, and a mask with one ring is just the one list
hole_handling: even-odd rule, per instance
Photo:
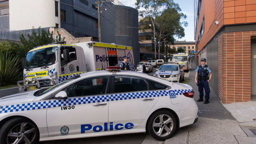
{"label": "blue and white checkered stripe along the foreground sedan's side", "polygon": [[127,99],[142,99],[147,97],[164,97],[169,96],[170,91],[175,91],[176,96],[181,95],[183,92],[191,92],[191,90],[159,90],[159,91],[147,91],[147,92],[131,92],[122,94],[108,94],[102,96],[91,96],[91,97],[77,97],[70,99],[59,99],[59,100],[49,100],[49,101],[38,101],[23,104],[12,104],[0,107],[0,113],[10,113],[17,111],[29,111],[34,109],[45,109],[60,106],[71,106],[78,104],[90,104],[96,102],[109,102],[109,101],[119,101]]}

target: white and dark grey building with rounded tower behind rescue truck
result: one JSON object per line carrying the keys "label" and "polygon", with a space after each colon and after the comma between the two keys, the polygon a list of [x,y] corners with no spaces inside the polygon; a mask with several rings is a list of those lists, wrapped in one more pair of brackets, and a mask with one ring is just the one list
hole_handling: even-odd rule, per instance
{"label": "white and dark grey building with rounded tower behind rescue truck", "polygon": [[[135,64],[138,63],[137,9],[114,0],[103,3],[100,10],[102,42],[133,47]],[[64,28],[74,38],[98,40],[95,0],[0,0],[0,12],[0,31],[9,29],[13,33],[32,26],[46,30],[54,27]]]}

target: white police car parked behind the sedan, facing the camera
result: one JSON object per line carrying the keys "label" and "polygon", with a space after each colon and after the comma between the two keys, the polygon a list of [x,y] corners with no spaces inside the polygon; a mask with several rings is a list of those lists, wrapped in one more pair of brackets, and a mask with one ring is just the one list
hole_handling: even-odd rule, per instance
{"label": "white police car parked behind the sedan, facing the camera", "polygon": [[171,82],[181,82],[184,80],[184,70],[179,64],[163,64],[159,69],[156,69],[153,76],[168,80]]}

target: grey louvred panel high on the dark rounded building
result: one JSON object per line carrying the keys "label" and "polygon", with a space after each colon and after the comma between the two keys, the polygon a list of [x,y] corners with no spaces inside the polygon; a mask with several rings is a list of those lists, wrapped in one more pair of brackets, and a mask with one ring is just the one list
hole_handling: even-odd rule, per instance
{"label": "grey louvred panel high on the dark rounded building", "polygon": [[132,11],[115,8],[115,35],[133,36],[132,29]]}

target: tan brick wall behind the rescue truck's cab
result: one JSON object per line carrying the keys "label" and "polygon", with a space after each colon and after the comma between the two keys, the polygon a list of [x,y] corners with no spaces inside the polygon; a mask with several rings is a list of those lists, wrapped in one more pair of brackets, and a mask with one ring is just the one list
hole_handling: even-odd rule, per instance
{"label": "tan brick wall behind the rescue truck's cab", "polygon": [[75,44],[75,43],[80,43],[80,42],[93,41],[92,37],[75,38],[64,28],[50,28],[49,31],[50,32],[53,31],[54,33],[57,33],[57,31],[59,31],[59,33],[62,33],[62,38],[65,37],[64,41],[66,41],[66,44]]}

